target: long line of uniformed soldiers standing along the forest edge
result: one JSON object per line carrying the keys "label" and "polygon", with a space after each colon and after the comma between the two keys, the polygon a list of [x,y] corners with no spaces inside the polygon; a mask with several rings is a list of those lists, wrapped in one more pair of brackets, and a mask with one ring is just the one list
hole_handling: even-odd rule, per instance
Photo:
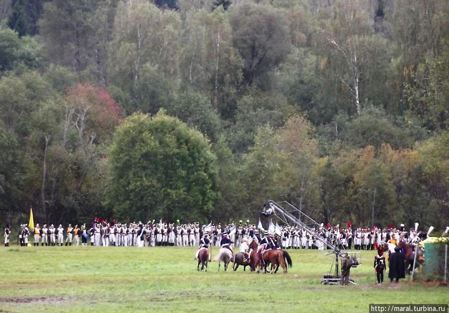
{"label": "long line of uniformed soldiers standing along the forest edge", "polygon": [[[350,223],[346,228],[340,225],[321,227],[306,231],[298,226],[285,225],[280,227],[269,227],[264,230],[261,225],[239,223],[200,225],[196,223],[179,224],[166,222],[143,223],[119,223],[119,222],[93,222],[90,227],[86,224],[68,224],[63,227],[59,224],[54,227],[46,224],[40,227],[36,224],[30,229],[27,224],[20,225],[18,231],[18,241],[21,246],[199,246],[200,240],[205,233],[209,235],[211,244],[219,246],[224,233],[238,247],[243,239],[249,242],[256,234],[263,236],[265,233],[274,235],[277,243],[284,249],[326,249],[326,245],[318,237],[326,238],[329,243],[344,249],[375,250],[375,246],[381,246],[387,242],[399,242],[405,240],[411,245],[416,245],[417,241],[427,238],[428,234],[423,230],[414,228],[406,229],[403,224],[399,227],[390,228],[356,228],[352,229]],[[9,245],[11,239],[11,229],[6,225],[4,229],[4,244]]]}

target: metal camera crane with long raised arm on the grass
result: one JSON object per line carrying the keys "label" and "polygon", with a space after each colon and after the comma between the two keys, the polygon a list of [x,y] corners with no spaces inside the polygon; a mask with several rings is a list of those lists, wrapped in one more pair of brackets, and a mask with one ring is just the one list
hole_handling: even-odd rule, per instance
{"label": "metal camera crane with long raised arm on the grass", "polygon": [[[262,214],[265,216],[275,215],[278,219],[280,219],[285,224],[296,224],[306,231],[309,235],[313,236],[315,239],[321,241],[324,246],[328,249],[332,250],[331,253],[327,253],[326,255],[334,254],[335,255],[335,272],[334,275],[324,275],[324,279],[321,282],[322,285],[336,285],[340,284],[341,281],[341,272],[340,272],[340,264],[342,263],[342,259],[347,256],[353,259],[352,267],[359,267],[362,264],[362,258],[360,252],[346,252],[343,248],[343,244],[339,238],[335,238],[334,234],[328,229],[323,227],[323,233],[318,233],[316,229],[322,227],[317,221],[313,218],[293,206],[287,201],[275,202],[273,200],[268,200],[264,205],[264,209]],[[353,280],[349,280],[350,283],[356,284]]]}

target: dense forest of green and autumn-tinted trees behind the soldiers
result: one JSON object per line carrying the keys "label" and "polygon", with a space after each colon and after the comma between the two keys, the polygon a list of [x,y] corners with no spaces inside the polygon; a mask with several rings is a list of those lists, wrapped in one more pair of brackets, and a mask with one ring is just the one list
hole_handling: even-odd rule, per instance
{"label": "dense forest of green and autumn-tinted trees behind the soldiers", "polygon": [[449,221],[447,0],[0,0],[0,222]]}

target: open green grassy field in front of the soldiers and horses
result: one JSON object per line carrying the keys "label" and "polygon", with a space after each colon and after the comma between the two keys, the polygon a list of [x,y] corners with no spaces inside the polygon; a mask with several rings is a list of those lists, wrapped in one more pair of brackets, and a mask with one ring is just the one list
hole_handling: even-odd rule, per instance
{"label": "open green grassy field in front of the soldiers and horses", "polygon": [[351,271],[357,286],[320,285],[333,260],[316,250],[289,250],[293,268],[275,275],[217,272],[215,262],[197,272],[194,251],[0,247],[0,312],[368,312],[370,303],[449,303],[448,287],[377,285],[374,251]]}

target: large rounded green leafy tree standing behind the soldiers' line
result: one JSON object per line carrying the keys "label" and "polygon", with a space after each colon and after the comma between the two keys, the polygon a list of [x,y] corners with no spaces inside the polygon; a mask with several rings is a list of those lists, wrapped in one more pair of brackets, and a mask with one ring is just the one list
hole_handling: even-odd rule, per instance
{"label": "large rounded green leafy tree standing behind the soldiers' line", "polygon": [[133,114],[114,134],[108,205],[120,218],[206,221],[215,201],[208,140],[176,118]]}

